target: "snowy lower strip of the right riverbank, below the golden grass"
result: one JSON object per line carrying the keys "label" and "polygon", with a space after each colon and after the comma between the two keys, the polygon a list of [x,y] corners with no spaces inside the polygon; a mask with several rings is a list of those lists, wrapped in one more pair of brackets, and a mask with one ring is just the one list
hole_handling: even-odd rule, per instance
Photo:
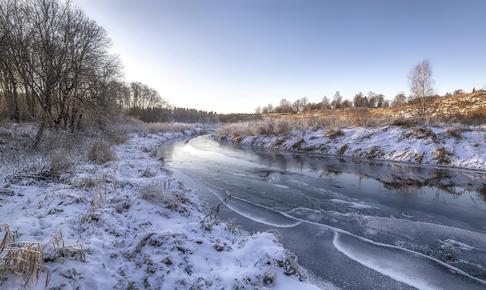
{"label": "snowy lower strip of the right riverbank, below the golden grass", "polygon": [[484,130],[413,126],[308,129],[272,136],[218,134],[243,145],[486,169]]}

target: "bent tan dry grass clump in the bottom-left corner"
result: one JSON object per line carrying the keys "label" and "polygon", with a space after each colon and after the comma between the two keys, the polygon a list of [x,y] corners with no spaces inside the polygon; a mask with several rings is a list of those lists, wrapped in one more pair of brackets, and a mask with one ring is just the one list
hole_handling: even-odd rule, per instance
{"label": "bent tan dry grass clump in the bottom-left corner", "polygon": [[31,289],[37,285],[41,273],[46,274],[44,290],[47,290],[51,279],[49,267],[44,265],[44,254],[39,242],[10,242],[10,228],[8,224],[0,224],[4,236],[0,244],[0,283],[12,277],[15,285],[23,282],[20,289]]}

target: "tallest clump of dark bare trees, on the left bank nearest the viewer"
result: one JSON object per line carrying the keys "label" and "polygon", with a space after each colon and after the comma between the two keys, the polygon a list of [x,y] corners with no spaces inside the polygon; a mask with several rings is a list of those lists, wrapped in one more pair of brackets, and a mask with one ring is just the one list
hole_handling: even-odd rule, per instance
{"label": "tallest clump of dark bare trees, on the left bank nearest the viewer", "polygon": [[14,119],[22,97],[39,121],[34,145],[48,127],[74,130],[83,116],[99,120],[109,112],[108,84],[121,76],[111,46],[106,30],[71,0],[0,1],[1,75],[10,80]]}

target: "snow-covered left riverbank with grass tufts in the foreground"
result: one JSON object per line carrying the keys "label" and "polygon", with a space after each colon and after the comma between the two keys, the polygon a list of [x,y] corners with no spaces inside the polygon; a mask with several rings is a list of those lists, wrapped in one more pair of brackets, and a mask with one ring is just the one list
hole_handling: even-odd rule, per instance
{"label": "snow-covered left riverbank with grass tufts in the foreground", "polygon": [[[43,245],[47,289],[318,289],[299,281],[277,233],[242,236],[231,221],[205,218],[196,193],[170,177],[165,153],[154,149],[193,133],[132,137],[113,147],[118,160],[81,164],[55,181],[7,177],[0,222],[12,242]],[[9,276],[0,290],[21,286]]]}

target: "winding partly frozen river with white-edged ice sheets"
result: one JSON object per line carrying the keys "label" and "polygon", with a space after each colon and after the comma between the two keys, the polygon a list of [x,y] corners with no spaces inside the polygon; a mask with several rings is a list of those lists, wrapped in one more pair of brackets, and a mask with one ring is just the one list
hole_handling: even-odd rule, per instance
{"label": "winding partly frozen river with white-edged ice sheets", "polygon": [[237,145],[161,147],[174,177],[249,233],[278,230],[323,289],[486,289],[486,175]]}

